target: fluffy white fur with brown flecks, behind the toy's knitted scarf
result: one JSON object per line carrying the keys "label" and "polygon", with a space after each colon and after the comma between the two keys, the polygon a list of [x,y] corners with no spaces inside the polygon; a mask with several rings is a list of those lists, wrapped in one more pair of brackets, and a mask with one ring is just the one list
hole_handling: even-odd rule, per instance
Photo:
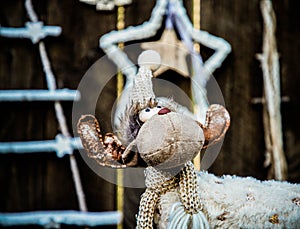
{"label": "fluffy white fur with brown flecks, behind the toy's knitted scarf", "polygon": [[[198,184],[210,228],[300,228],[300,184],[207,172],[198,173]],[[155,218],[158,228],[168,228],[178,202],[176,189],[161,196]]]}

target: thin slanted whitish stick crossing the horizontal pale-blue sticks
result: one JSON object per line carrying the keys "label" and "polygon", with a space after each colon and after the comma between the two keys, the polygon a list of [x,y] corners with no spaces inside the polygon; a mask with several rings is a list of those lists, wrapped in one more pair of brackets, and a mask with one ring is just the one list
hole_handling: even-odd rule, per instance
{"label": "thin slanted whitish stick crossing the horizontal pale-blue sticks", "polygon": [[[25,8],[27,10],[30,20],[32,22],[37,22],[38,17],[32,7],[31,0],[25,1]],[[49,61],[49,58],[47,55],[45,44],[42,41],[39,42],[39,53],[40,53],[40,57],[42,60],[43,70],[45,72],[48,89],[53,91],[56,89],[55,76],[54,76],[51,66],[50,66],[50,61]],[[59,124],[59,127],[61,129],[63,136],[66,138],[71,137],[68,127],[67,127],[67,124],[66,124],[66,118],[64,116],[61,103],[56,101],[54,104],[54,108],[55,108],[56,118],[57,118],[57,121],[58,121],[58,124]],[[76,163],[76,159],[73,155],[73,150],[72,150],[72,152],[70,152],[70,166],[71,166],[71,171],[72,171],[72,175],[73,175],[73,180],[75,183],[75,190],[76,190],[76,195],[77,195],[77,199],[78,199],[79,209],[81,211],[86,212],[87,206],[86,206],[86,202],[85,202],[85,196],[84,196],[84,192],[83,192],[83,188],[82,188],[82,184],[81,184],[81,180],[80,180],[80,175],[79,175],[79,170],[78,170],[78,166]]]}

